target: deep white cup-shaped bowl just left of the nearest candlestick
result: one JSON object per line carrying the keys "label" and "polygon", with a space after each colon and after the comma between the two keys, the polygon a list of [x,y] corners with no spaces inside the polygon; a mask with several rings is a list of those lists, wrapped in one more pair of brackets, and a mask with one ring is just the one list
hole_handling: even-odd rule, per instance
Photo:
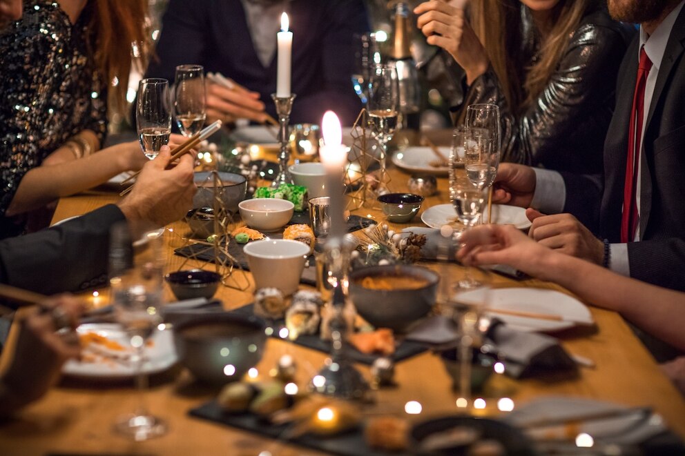
{"label": "deep white cup-shaped bowl just left of the nearest candlestick", "polygon": [[298,290],[309,246],[289,239],[264,239],[247,244],[243,250],[255,280],[255,290],[274,287],[283,295]]}

